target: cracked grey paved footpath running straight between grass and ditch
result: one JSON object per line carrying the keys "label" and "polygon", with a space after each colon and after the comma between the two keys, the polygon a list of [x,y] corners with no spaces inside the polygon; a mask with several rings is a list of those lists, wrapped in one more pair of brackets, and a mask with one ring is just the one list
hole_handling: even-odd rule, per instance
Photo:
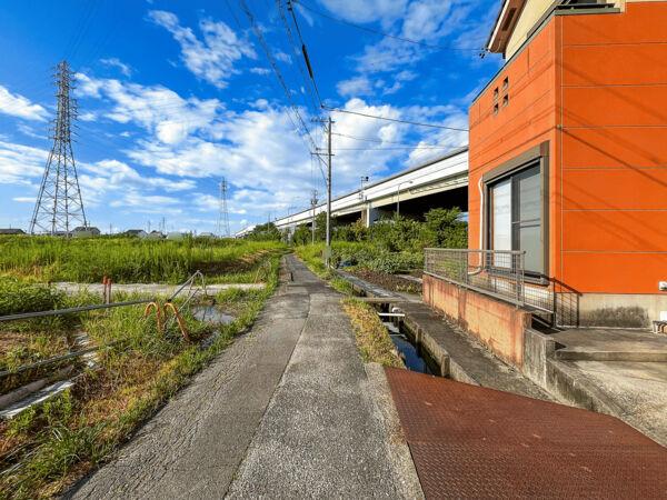
{"label": "cracked grey paved footpath running straight between grass and ditch", "polygon": [[66,498],[421,497],[340,294],[285,266],[292,281],[252,330]]}

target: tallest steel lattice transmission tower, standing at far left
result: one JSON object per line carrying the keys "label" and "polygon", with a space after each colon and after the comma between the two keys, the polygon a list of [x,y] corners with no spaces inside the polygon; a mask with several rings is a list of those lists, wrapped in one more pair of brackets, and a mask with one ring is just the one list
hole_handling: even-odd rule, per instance
{"label": "tallest steel lattice transmission tower, standing at far left", "polygon": [[67,61],[56,67],[58,111],[53,121],[53,147],[49,153],[30,233],[70,234],[77,226],[88,227],[81,189],[72,152],[72,123],[77,118],[77,101],[70,97],[74,86]]}

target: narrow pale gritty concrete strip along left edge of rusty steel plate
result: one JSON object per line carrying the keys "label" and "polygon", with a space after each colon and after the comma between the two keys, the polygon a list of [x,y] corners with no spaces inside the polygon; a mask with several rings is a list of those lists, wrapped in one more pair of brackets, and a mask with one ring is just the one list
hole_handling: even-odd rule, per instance
{"label": "narrow pale gritty concrete strip along left edge of rusty steel plate", "polygon": [[394,404],[385,368],[379,363],[365,363],[364,369],[368,377],[370,399],[387,432],[387,456],[397,472],[397,489],[402,498],[424,499],[421,483]]}

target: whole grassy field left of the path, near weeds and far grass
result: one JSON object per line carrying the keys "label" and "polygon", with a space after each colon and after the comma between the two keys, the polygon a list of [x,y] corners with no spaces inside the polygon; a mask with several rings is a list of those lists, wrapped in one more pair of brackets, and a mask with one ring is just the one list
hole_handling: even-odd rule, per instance
{"label": "whole grassy field left of the path, near weeds and far grass", "polygon": [[[0,499],[56,497],[102,462],[253,322],[277,284],[282,251],[275,242],[0,239],[0,316],[101,301],[67,296],[49,280],[92,282],[107,274],[117,282],[175,283],[201,269],[207,282],[266,283],[215,298],[215,307],[235,318],[229,324],[203,323],[183,310],[189,340],[176,323],[158,329],[143,306],[0,323],[0,371],[67,353],[78,332],[104,347],[93,369],[67,361],[0,378],[0,393],[7,393],[60,369],[77,374],[60,397],[0,421]],[[132,298],[117,293],[115,301]]]}

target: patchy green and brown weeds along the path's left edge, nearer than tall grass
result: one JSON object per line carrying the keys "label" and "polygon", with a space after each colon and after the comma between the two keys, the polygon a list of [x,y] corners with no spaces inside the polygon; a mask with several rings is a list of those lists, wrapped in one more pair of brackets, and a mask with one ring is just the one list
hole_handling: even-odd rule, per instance
{"label": "patchy green and brown weeds along the path's left edge, nearer than tall grass", "polygon": [[[90,240],[77,243],[83,241]],[[236,247],[246,251],[280,248],[272,243]],[[6,339],[18,336],[21,348],[32,349],[33,354],[37,351],[26,340],[44,339],[48,349],[39,354],[40,359],[53,356],[58,342],[61,351],[68,350],[68,339],[76,331],[86,331],[93,344],[103,347],[98,351],[96,368],[79,362],[80,374],[71,389],[10,421],[0,422],[0,498],[57,496],[129,439],[169,397],[255,321],[277,284],[279,254],[271,253],[259,271],[263,273],[266,288],[231,289],[216,297],[216,307],[235,317],[231,323],[213,327],[198,321],[187,310],[183,312],[189,341],[183,339],[176,322],[160,330],[155,316],[145,317],[141,306],[72,316],[58,329],[29,323],[23,329],[0,330],[0,339],[3,334]],[[68,298],[48,286],[26,286],[26,281],[19,279],[4,278],[0,280],[0,297],[2,290],[8,297],[11,294],[6,302],[0,302],[6,312],[90,303],[91,299],[89,296]],[[131,298],[119,293],[116,299]],[[21,358],[10,366],[6,354],[3,351],[0,363],[10,369],[27,359],[37,359],[34,356]],[[53,371],[54,367],[50,366],[50,372]],[[44,374],[29,370],[26,376]]]}

